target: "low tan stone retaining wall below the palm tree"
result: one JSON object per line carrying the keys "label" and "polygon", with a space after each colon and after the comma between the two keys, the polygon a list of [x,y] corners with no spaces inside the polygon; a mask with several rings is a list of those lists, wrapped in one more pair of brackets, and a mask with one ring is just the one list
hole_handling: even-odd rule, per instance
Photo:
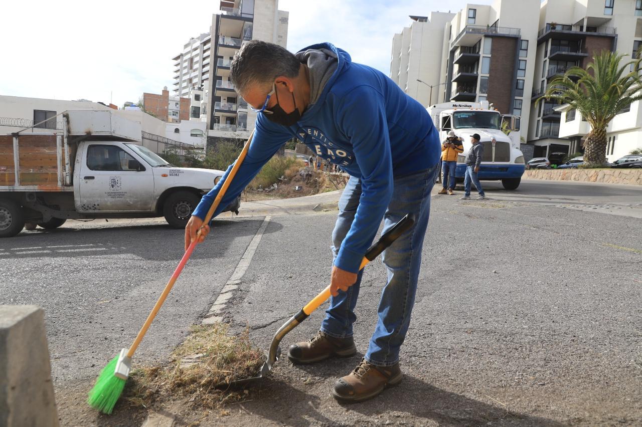
{"label": "low tan stone retaining wall below the palm tree", "polygon": [[524,178],[642,185],[642,169],[535,169],[526,171]]}

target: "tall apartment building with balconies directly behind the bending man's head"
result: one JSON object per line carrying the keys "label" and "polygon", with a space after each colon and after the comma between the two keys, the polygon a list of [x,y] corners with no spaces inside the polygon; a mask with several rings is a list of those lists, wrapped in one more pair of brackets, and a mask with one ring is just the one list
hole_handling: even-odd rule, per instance
{"label": "tall apartment building with balconies directly behind the bending man's head", "polygon": [[278,0],[223,0],[212,17],[212,85],[208,97],[208,136],[247,139],[254,130],[256,113],[248,109],[229,80],[234,54],[249,40],[263,40],[286,47],[288,12]]}

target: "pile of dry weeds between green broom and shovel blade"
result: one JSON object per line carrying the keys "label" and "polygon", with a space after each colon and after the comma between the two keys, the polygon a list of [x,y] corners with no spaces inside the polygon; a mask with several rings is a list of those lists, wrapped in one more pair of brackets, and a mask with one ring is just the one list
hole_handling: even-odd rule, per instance
{"label": "pile of dry weeds between green broom and shovel blade", "polygon": [[[181,364],[182,358],[202,355],[198,362]],[[252,346],[248,330],[228,335],[227,324],[193,326],[192,333],[172,353],[166,366],[135,369],[125,389],[126,400],[148,408],[156,401],[186,399],[190,406],[216,408],[243,399],[238,390],[227,390],[235,380],[256,376],[265,355]]]}

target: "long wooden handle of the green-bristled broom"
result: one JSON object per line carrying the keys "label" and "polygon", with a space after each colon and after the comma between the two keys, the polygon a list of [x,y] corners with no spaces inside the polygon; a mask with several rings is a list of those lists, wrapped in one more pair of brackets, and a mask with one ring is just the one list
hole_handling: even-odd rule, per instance
{"label": "long wooden handle of the green-bristled broom", "polygon": [[134,352],[138,348],[138,345],[141,344],[141,341],[143,340],[145,333],[147,333],[148,328],[152,324],[154,317],[156,317],[156,314],[159,312],[160,307],[163,305],[165,299],[169,295],[169,291],[174,286],[174,283],[176,283],[178,276],[180,276],[180,272],[183,271],[183,267],[185,267],[185,264],[187,264],[187,260],[189,260],[189,257],[192,255],[192,252],[196,247],[196,242],[198,242],[198,237],[201,234],[201,230],[203,230],[205,225],[207,225],[212,219],[214,211],[216,211],[216,208],[218,208],[218,205],[221,203],[221,199],[223,199],[223,196],[225,196],[225,192],[227,192],[227,188],[230,186],[230,183],[234,179],[234,176],[236,176],[236,172],[239,170],[239,167],[241,167],[241,163],[243,163],[243,160],[245,160],[245,155],[247,155],[247,151],[250,148],[252,137],[254,137],[254,131],[252,131],[252,133],[250,134],[250,138],[245,143],[245,146],[243,146],[243,150],[241,150],[241,154],[239,154],[238,158],[236,159],[236,163],[234,163],[234,166],[232,166],[232,170],[230,171],[229,175],[227,176],[227,178],[225,178],[225,181],[223,181],[223,185],[221,185],[221,189],[218,191],[218,194],[216,195],[212,206],[209,207],[207,215],[205,215],[205,219],[203,220],[203,225],[200,226],[200,228],[198,228],[198,231],[196,232],[196,239],[194,239],[194,241],[189,244],[187,250],[183,254],[183,257],[180,258],[180,262],[178,263],[178,267],[176,267],[174,274],[171,275],[171,278],[169,279],[167,285],[165,285],[165,289],[163,289],[158,301],[156,301],[156,304],[154,305],[154,308],[152,308],[152,312],[150,313],[150,315],[148,315],[147,320],[144,322],[143,328],[141,328],[141,330],[138,332],[138,335],[136,335],[136,339],[132,343],[132,346],[129,347],[129,350],[127,351],[127,357],[134,356]]}

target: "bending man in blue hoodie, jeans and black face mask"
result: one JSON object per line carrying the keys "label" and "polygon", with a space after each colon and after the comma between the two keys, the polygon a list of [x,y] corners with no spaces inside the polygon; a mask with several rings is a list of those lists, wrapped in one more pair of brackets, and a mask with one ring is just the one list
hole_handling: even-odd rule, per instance
{"label": "bending man in blue hoodie, jeans and black face mask", "polygon": [[[229,205],[293,136],[351,175],[332,234],[330,306],[317,335],[290,347],[292,362],[309,364],[356,353],[352,323],[363,255],[382,219],[386,231],[406,213],[417,217],[414,226],[383,253],[388,278],[368,351],[333,388],[338,401],[373,398],[402,378],[399,348],[415,302],[430,192],[438,171],[437,130],[426,109],[392,80],[351,62],[349,54],[329,43],[292,54],[281,46],[252,40],[234,56],[230,79],[258,115],[247,157],[220,206]],[[196,238],[230,169],[193,212],[186,226],[186,246]],[[208,231],[206,225],[202,239]]]}

